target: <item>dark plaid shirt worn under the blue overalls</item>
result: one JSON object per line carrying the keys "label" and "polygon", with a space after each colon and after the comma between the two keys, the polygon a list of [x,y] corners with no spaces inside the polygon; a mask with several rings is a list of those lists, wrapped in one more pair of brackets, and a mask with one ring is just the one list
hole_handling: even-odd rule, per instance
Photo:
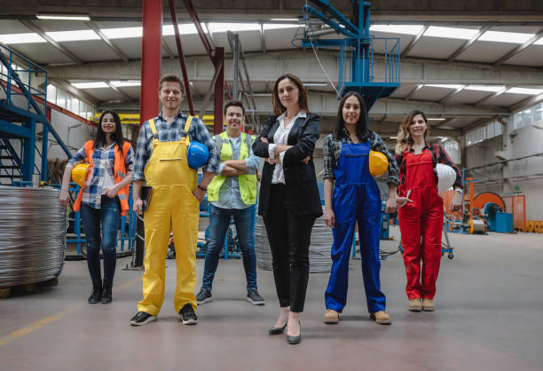
{"label": "dark plaid shirt worn under the blue overalls", "polygon": [[[370,144],[372,150],[381,152],[386,155],[389,159],[389,178],[387,183],[390,184],[399,184],[399,173],[397,169],[397,162],[394,159],[394,156],[390,154],[389,148],[384,144],[382,138],[379,134],[370,130]],[[329,134],[325,138],[323,146],[323,156],[324,156],[324,178],[334,178],[334,170],[337,166],[337,162],[342,154],[342,143],[354,144],[352,139],[349,137],[349,132],[343,129],[343,135],[341,139],[334,138],[334,134]]]}

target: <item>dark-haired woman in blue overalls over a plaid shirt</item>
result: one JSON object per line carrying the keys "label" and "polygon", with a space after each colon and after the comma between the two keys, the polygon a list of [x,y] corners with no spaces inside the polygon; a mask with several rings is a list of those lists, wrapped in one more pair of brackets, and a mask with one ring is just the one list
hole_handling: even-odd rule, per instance
{"label": "dark-haired woman in blue overalls over a plaid shirt", "polygon": [[[378,134],[367,128],[364,100],[350,91],[338,111],[337,125],[324,144],[325,222],[333,228],[332,272],[325,294],[325,323],[337,323],[347,304],[349,257],[355,222],[358,224],[362,275],[370,318],[390,324],[386,299],[380,288],[379,241],[381,239],[381,194],[369,170],[370,150],[389,160],[389,198],[386,212],[396,210],[397,162]],[[335,182],[335,184],[334,184]],[[333,196],[334,194],[334,196]]]}

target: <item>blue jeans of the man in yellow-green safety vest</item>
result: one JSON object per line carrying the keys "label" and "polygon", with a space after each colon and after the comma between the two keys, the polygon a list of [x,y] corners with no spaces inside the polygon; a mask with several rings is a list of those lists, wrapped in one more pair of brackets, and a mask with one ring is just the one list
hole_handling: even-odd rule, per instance
{"label": "blue jeans of the man in yellow-green safety vest", "polygon": [[240,241],[243,267],[247,278],[247,290],[256,290],[256,254],[255,235],[253,233],[255,206],[246,209],[222,209],[209,204],[209,243],[201,286],[201,288],[209,291],[211,291],[221,249],[224,248],[224,238],[231,217],[234,218],[236,233],[238,233]]}

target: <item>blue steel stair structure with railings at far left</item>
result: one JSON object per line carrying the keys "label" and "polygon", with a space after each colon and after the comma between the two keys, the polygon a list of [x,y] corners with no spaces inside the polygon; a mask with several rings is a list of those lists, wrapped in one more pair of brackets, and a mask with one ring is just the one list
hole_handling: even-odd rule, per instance
{"label": "blue steel stair structure with railings at far left", "polygon": [[[23,66],[16,67],[14,59]],[[46,181],[49,133],[67,157],[72,156],[46,117],[47,71],[1,44],[0,66],[6,70],[0,72],[0,178],[9,178],[12,184],[15,180],[29,182],[36,173]],[[43,78],[43,89],[32,86],[32,79],[36,77]],[[36,99],[43,100],[43,109]],[[43,127],[41,151],[35,146],[37,123]],[[20,154],[12,140],[20,140]],[[40,167],[35,165],[35,153],[41,156]]]}

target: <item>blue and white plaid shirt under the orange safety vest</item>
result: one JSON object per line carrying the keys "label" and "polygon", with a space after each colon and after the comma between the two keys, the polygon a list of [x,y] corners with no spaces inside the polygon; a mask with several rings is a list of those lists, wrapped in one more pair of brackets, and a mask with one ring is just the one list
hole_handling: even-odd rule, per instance
{"label": "blue and white plaid shirt under the orange safety vest", "polygon": [[[82,202],[91,206],[93,209],[100,209],[102,194],[106,193],[106,185],[110,182],[106,181],[106,177],[114,179],[114,164],[115,164],[115,144],[111,146],[100,146],[94,148],[92,152],[92,172],[87,178],[87,183],[83,189],[83,198]],[[122,150],[122,148],[121,148]],[[67,165],[74,167],[77,162],[84,161],[87,157],[85,153],[85,147],[77,151],[74,157],[72,157]],[[129,173],[132,171],[134,165],[134,150],[130,146],[128,154],[124,159],[124,166],[126,167],[126,172]]]}

